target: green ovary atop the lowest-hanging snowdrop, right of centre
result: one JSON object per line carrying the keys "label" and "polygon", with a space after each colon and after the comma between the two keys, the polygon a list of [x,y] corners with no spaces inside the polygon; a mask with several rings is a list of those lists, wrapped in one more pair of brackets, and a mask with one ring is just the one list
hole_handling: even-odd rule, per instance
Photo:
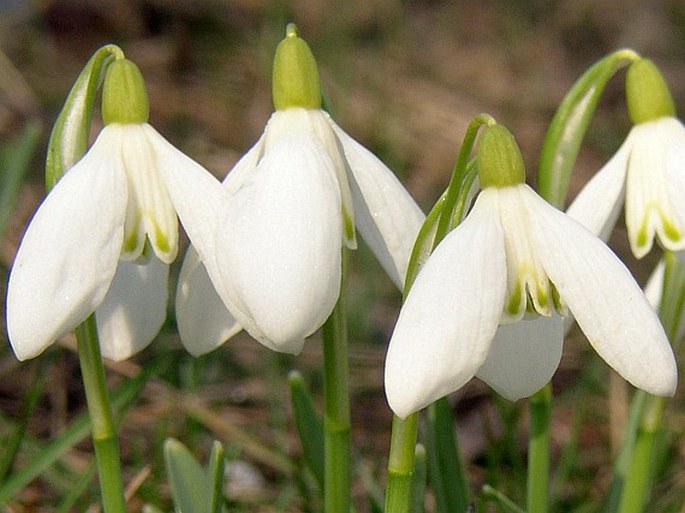
{"label": "green ovary atop the lowest-hanging snowdrop, right of centre", "polygon": [[514,136],[502,125],[485,128],[476,152],[480,186],[508,187],[525,182],[526,170]]}

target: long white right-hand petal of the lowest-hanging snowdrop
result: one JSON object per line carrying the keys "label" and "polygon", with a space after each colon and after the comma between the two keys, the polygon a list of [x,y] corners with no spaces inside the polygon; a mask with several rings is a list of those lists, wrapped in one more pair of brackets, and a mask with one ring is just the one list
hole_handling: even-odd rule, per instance
{"label": "long white right-hand petal of the lowest-hanging snowdrop", "polygon": [[672,395],[677,384],[673,351],[628,269],[583,226],[528,190],[542,264],[590,344],[636,387]]}

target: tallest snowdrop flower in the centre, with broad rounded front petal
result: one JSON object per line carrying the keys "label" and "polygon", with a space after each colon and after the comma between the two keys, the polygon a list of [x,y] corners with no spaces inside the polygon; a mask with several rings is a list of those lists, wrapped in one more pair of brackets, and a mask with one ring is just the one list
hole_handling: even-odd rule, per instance
{"label": "tallest snowdrop flower in the centre, with broad rounded front petal", "polygon": [[355,227],[395,284],[404,282],[424,215],[321,109],[320,91],[314,57],[289,25],[274,59],[276,111],[224,182],[230,199],[215,246],[196,245],[181,272],[179,332],[195,354],[241,328],[298,353],[335,306],[341,250],[356,246]]}

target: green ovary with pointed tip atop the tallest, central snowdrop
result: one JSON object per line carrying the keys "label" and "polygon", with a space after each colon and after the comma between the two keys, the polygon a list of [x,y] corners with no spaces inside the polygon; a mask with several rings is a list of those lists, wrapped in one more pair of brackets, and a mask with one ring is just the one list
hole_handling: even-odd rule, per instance
{"label": "green ovary with pointed tip atop the tallest, central snowdrop", "polygon": [[307,43],[298,37],[294,23],[288,24],[285,39],[276,48],[272,89],[276,110],[321,108],[319,68]]}

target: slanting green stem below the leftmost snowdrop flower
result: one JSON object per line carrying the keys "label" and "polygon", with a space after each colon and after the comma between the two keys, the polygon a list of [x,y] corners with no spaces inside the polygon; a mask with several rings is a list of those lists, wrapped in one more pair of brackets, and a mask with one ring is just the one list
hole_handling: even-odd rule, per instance
{"label": "slanting green stem below the leftmost snowdrop flower", "polygon": [[93,446],[105,513],[125,513],[124,484],[119,458],[119,441],[105,382],[95,316],[89,316],[76,330],[78,354],[92,425]]}

